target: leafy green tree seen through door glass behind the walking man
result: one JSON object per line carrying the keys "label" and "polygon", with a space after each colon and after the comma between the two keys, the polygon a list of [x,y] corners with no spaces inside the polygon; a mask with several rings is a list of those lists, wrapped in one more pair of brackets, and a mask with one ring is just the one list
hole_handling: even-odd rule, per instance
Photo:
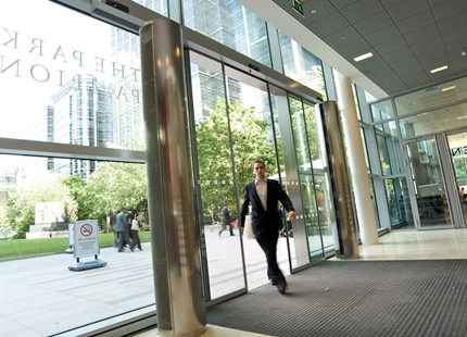
{"label": "leafy green tree seen through door glass behind the walking man", "polygon": [[230,208],[237,204],[237,196],[231,184],[234,182],[232,155],[239,186],[253,179],[254,160],[264,160],[266,166],[273,170],[276,166],[274,143],[267,137],[267,121],[260,120],[253,109],[243,108],[239,101],[229,105],[228,117],[229,120],[225,100],[219,98],[210,116],[197,126],[203,210],[213,221],[218,220],[215,214],[224,203],[229,204]]}

